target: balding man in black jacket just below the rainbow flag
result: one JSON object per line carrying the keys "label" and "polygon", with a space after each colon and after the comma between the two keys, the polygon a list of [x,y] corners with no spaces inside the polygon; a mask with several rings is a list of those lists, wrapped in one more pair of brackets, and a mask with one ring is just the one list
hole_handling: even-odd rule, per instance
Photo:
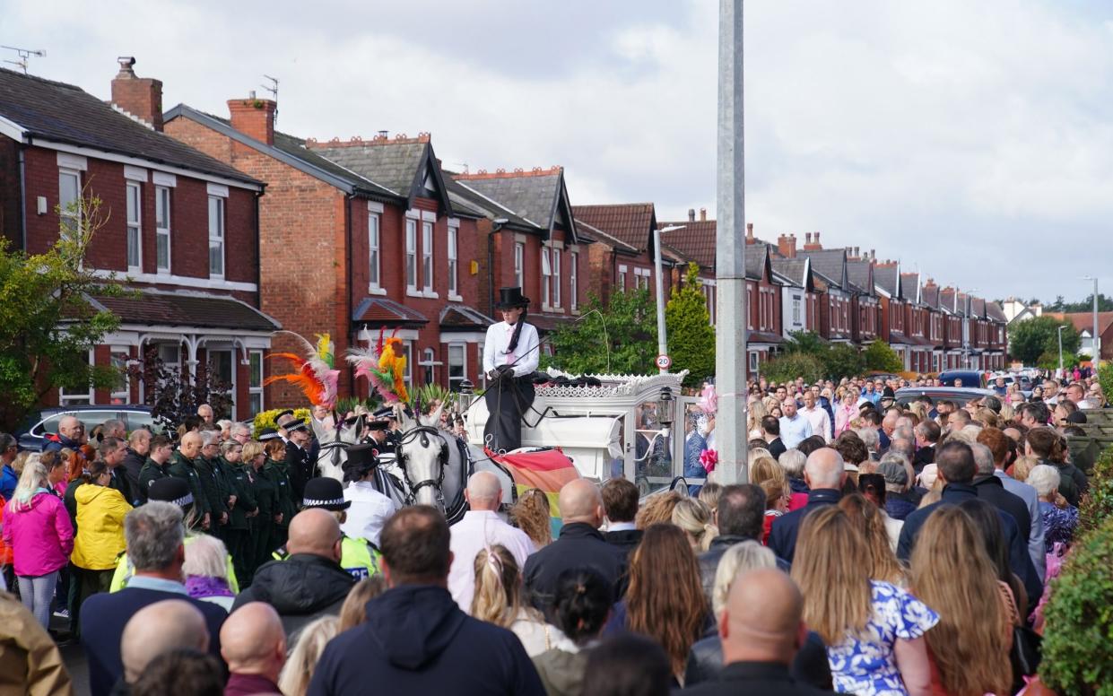
{"label": "balding man in black jacket just below the rainbow flag", "polygon": [[611,582],[615,597],[626,590],[626,555],[599,531],[604,514],[599,487],[587,479],[570,481],[560,490],[559,504],[560,538],[531,556],[522,571],[530,601],[550,617],[556,579],[570,568],[591,568]]}

